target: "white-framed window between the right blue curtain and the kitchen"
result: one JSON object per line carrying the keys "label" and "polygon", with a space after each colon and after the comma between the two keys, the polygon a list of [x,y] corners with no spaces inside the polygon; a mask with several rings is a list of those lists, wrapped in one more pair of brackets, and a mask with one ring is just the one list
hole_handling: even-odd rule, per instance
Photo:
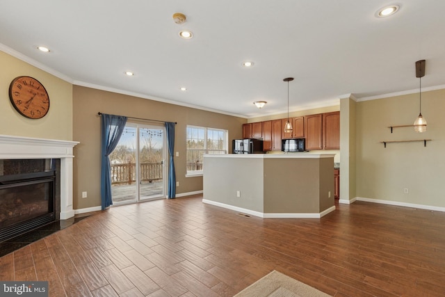
{"label": "white-framed window between the right blue curtain and the kitchen", "polygon": [[227,154],[227,130],[187,126],[187,175],[202,174],[204,154]]}

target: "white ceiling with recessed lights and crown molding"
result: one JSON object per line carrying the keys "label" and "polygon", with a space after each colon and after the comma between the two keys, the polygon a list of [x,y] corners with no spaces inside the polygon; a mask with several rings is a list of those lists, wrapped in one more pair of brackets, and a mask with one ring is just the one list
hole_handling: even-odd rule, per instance
{"label": "white ceiling with recessed lights and crown molding", "polygon": [[421,59],[422,89],[445,88],[444,15],[442,0],[2,0],[0,49],[77,85],[252,118],[286,112],[286,77],[291,111],[418,90]]}

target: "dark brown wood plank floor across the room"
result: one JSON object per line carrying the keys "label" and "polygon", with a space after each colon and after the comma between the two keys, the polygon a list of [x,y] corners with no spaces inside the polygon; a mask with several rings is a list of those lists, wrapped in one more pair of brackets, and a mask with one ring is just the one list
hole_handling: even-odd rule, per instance
{"label": "dark brown wood plank floor across the room", "polygon": [[444,296],[445,213],[367,202],[245,217],[202,197],[113,207],[0,258],[50,296],[233,296],[274,269],[332,296]]}

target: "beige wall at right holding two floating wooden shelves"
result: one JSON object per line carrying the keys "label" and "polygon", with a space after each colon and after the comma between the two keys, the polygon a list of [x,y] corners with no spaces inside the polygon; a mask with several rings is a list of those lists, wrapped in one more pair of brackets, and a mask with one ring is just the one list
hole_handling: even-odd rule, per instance
{"label": "beige wall at right holding two floating wooden shelves", "polygon": [[[445,207],[445,90],[422,93],[425,133],[412,127],[419,115],[419,94],[357,103],[357,197]],[[389,143],[430,138],[423,143]],[[408,188],[409,193],[403,193]]]}

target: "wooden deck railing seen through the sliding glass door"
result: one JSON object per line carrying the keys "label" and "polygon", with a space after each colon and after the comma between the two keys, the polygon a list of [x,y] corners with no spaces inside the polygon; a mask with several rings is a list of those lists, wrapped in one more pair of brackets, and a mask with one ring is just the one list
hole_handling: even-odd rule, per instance
{"label": "wooden deck railing seen through the sliding glass door", "polygon": [[[162,179],[162,163],[140,163],[141,182]],[[136,182],[136,163],[111,164],[111,184],[131,184]]]}

